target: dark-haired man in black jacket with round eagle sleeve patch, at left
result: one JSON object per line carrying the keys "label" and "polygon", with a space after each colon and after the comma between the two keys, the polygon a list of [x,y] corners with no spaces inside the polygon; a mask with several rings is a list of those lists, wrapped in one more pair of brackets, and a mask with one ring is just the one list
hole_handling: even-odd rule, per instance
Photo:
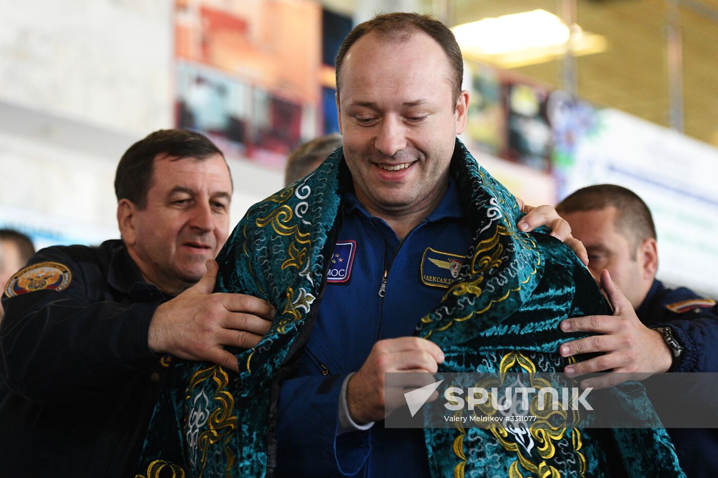
{"label": "dark-haired man in black jacket with round eagle sleeve patch, at left", "polygon": [[40,250],[7,283],[0,325],[0,474],[129,477],[169,355],[237,370],[274,310],[212,294],[230,173],[190,131],[151,133],[118,165],[122,240]]}

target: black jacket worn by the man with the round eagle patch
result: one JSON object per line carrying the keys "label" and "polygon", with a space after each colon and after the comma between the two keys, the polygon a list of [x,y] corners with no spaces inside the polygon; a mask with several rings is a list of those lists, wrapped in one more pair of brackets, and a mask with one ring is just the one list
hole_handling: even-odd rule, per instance
{"label": "black jacket worn by the man with the round eagle patch", "polygon": [[[121,240],[40,250],[61,291],[3,297],[0,475],[131,477],[166,361],[147,345],[164,297]],[[164,364],[164,366],[163,366]]]}

